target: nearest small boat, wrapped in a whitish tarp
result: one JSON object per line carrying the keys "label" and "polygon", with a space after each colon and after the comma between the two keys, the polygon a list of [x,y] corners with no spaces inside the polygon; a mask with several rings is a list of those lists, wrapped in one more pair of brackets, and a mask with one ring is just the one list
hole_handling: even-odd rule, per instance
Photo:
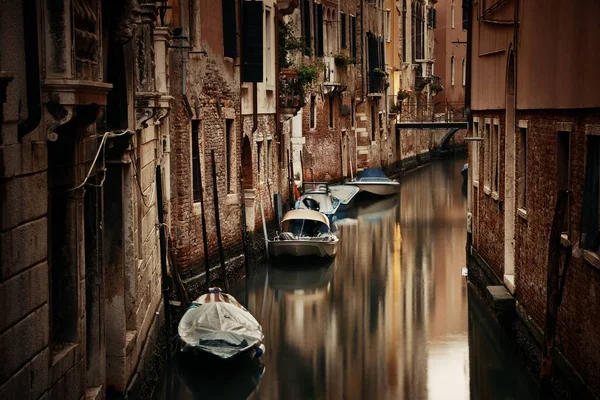
{"label": "nearest small boat, wrapped in a whitish tarp", "polygon": [[209,353],[225,360],[239,354],[260,357],[264,352],[258,321],[218,287],[192,303],[179,322],[178,333],[184,352]]}

